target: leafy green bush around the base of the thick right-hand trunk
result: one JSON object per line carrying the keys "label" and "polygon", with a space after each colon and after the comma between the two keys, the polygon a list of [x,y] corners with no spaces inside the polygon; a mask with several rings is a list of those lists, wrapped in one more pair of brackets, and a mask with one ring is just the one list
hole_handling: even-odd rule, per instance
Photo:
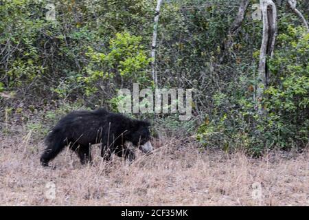
{"label": "leafy green bush around the base of the thick right-hand trunk", "polygon": [[265,114],[255,109],[254,76],[241,76],[214,96],[214,111],[198,129],[198,140],[226,151],[242,148],[259,155],[268,148],[289,149],[309,141],[309,34],[288,26],[277,37],[271,59],[271,86],[264,96]]}

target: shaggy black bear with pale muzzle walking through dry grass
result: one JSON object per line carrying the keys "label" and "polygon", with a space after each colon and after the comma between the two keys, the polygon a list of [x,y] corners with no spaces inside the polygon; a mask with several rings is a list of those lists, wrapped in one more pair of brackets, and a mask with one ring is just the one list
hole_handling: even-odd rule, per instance
{"label": "shaggy black bear with pale muzzle walking through dry grass", "polygon": [[127,118],[105,109],[73,111],[62,118],[47,135],[47,148],[41,156],[41,164],[48,166],[48,162],[65,146],[77,153],[82,164],[91,162],[90,146],[98,143],[104,160],[111,159],[112,153],[133,160],[135,153],[125,143],[131,142],[144,153],[150,153],[152,145],[149,126],[149,122]]}

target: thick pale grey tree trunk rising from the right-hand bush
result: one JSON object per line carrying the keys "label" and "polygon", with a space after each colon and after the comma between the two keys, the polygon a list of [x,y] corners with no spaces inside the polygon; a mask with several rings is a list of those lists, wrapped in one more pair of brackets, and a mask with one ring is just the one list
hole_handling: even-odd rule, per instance
{"label": "thick pale grey tree trunk rising from the right-hand bush", "polygon": [[263,36],[258,68],[257,105],[258,113],[262,115],[264,113],[262,107],[264,89],[267,87],[270,77],[267,59],[273,56],[275,38],[277,35],[277,10],[272,0],[260,0],[260,7],[262,11]]}

